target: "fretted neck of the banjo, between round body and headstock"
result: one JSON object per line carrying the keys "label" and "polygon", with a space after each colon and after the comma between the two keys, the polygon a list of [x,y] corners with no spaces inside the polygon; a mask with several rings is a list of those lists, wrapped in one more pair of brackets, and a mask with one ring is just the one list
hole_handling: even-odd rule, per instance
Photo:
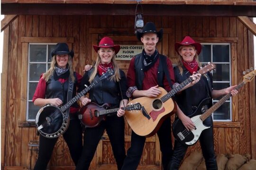
{"label": "fretted neck of the banjo, between round body and headstock", "polygon": [[101,80],[97,79],[91,83],[88,87],[85,87],[80,93],[78,93],[76,96],[74,96],[70,101],[68,101],[64,106],[60,108],[62,112],[67,110],[74,102],[78,101],[85,93],[87,93],[89,90],[91,90],[92,87],[94,87],[97,83],[99,83]]}

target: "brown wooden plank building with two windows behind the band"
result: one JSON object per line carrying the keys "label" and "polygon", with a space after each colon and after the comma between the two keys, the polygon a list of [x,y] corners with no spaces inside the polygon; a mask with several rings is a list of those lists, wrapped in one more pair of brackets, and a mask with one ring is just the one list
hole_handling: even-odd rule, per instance
{"label": "brown wooden plank building with two windows behind the band", "polygon": [[[173,63],[174,43],[189,35],[203,44],[201,59],[217,63],[213,75],[217,87],[237,85],[243,71],[254,67],[253,34],[256,2],[252,0],[139,0],[144,22],[164,29],[160,53]],[[46,71],[49,52],[57,42],[67,42],[75,55],[73,67],[80,74],[95,59],[92,44],[110,36],[116,44],[141,45],[134,34],[136,0],[1,0],[4,30],[1,74],[1,168],[33,169],[38,140],[35,110],[31,102],[38,77]],[[33,56],[35,55],[35,56]],[[129,61],[119,60],[127,71]],[[35,77],[35,78],[34,78]],[[222,82],[222,83],[221,83]],[[244,85],[239,94],[214,113],[216,153],[239,153],[256,159],[256,86]],[[222,112],[225,111],[225,112]],[[131,129],[126,123],[126,148]],[[29,145],[28,145],[29,144]],[[190,147],[187,154],[200,150]],[[73,170],[68,148],[60,137],[51,170]],[[146,139],[138,169],[159,170],[161,152],[157,136]],[[115,160],[107,134],[102,137],[91,170],[114,170]]]}

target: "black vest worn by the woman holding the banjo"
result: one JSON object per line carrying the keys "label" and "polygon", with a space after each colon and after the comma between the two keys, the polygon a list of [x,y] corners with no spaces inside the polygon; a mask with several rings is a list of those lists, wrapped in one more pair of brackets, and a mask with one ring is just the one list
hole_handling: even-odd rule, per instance
{"label": "black vest worn by the woman holding the banjo", "polygon": [[[75,83],[73,86],[73,94],[72,98],[76,95],[76,85],[77,85],[77,77],[74,72]],[[63,105],[67,103],[67,90],[68,90],[68,80],[64,83],[61,83],[59,80],[55,80],[54,76],[51,76],[49,80],[46,82],[46,98],[53,99],[59,98],[62,100]],[[78,103],[73,103],[72,107],[79,107]]]}

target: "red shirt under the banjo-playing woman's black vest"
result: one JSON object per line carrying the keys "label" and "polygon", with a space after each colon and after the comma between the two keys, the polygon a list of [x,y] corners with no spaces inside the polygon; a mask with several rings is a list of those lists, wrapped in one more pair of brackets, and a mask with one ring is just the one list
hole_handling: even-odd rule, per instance
{"label": "red shirt under the banjo-playing woman's black vest", "polygon": [[[78,85],[80,84],[81,80],[82,80],[82,76],[80,74],[78,74],[77,72],[75,72],[75,75],[77,77],[77,87]],[[46,98],[46,80],[43,77],[43,74],[40,76],[40,79],[39,79],[39,82],[37,84],[37,88],[36,88],[36,91],[34,93],[34,96],[33,96],[33,99],[32,99],[32,102],[34,102],[37,98],[42,98],[42,99],[45,99]],[[66,79],[63,79],[63,78],[60,78],[59,81],[61,83],[64,83],[66,81],[68,81],[68,78]],[[74,87],[76,88],[76,87]],[[70,113],[76,113],[77,111],[79,111],[80,108],[74,108],[74,107],[70,107]]]}

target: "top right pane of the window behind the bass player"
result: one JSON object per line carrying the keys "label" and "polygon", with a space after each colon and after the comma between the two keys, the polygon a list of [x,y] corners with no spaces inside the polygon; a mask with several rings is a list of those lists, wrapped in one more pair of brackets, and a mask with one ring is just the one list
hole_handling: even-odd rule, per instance
{"label": "top right pane of the window behind the bass player", "polygon": [[229,45],[212,45],[213,62],[229,62]]}

